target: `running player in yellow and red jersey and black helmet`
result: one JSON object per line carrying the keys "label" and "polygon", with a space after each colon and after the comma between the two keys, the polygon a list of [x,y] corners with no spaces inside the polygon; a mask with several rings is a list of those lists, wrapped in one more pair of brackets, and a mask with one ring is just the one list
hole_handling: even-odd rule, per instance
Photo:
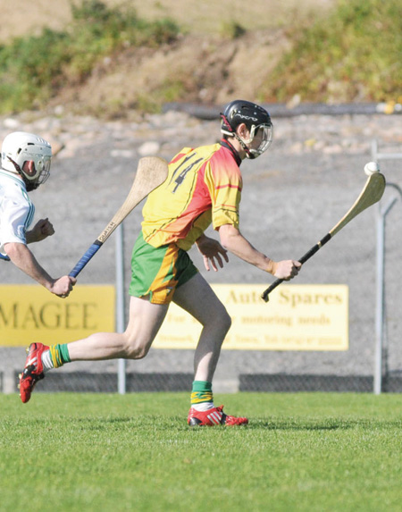
{"label": "running player in yellow and red jersey and black helmet", "polygon": [[[20,381],[23,402],[29,400],[33,387],[47,370],[64,363],[146,357],[173,301],[203,326],[194,358],[188,424],[248,423],[247,418],[227,415],[222,407],[214,405],[212,382],[222,342],[230,329],[230,316],[187,251],[196,244],[206,270],[222,267],[229,261],[229,251],[284,280],[297,275],[301,264],[291,259],[272,261],[239,231],[243,186],[239,165],[269,147],[269,114],[261,106],[235,100],[226,105],[221,118],[221,142],[183,148],[169,164],[167,180],[147,198],[142,230],[132,252],[126,331],[98,332],[86,340],[51,347],[32,343]],[[219,241],[205,235],[211,223]]]}

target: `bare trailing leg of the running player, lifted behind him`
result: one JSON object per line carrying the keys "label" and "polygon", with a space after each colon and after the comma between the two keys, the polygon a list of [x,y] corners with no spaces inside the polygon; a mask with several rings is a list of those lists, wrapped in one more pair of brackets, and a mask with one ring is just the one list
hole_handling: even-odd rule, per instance
{"label": "bare trailing leg of the running player, lifted behind him", "polygon": [[130,298],[130,319],[125,332],[96,332],[84,340],[69,343],[71,361],[140,359],[161,327],[168,306],[151,304],[147,298]]}

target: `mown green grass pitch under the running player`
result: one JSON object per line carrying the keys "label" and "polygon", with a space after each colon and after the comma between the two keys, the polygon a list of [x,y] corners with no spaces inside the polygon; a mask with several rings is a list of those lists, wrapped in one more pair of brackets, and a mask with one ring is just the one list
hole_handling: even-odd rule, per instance
{"label": "mown green grass pitch under the running player", "polygon": [[215,398],[250,424],[189,429],[183,393],[0,396],[0,510],[402,510],[401,395]]}

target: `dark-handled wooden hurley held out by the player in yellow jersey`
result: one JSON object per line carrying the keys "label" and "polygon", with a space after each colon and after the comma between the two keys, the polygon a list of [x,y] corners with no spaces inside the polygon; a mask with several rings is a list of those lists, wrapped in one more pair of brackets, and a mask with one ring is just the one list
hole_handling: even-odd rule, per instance
{"label": "dark-handled wooden hurley held out by the player in yellow jersey", "polygon": [[[369,164],[367,164],[366,167],[368,165]],[[364,168],[365,172],[366,167]],[[338,231],[340,231],[344,226],[346,226],[348,222],[354,219],[356,215],[361,214],[366,208],[380,201],[382,194],[384,193],[384,190],[385,178],[383,174],[381,174],[381,172],[378,171],[371,173],[369,175],[369,178],[365,182],[364,189],[361,191],[360,196],[357,197],[355,204],[350,208],[348,213],[345,214],[337,224],[335,224],[335,226],[323,237],[323,239],[317,242],[314,245],[314,247],[307,251],[306,254],[302,256],[298,261],[301,264],[306,263],[306,261],[310,259],[311,256],[314,256],[314,254],[319,249],[321,249],[324,244],[330,241],[331,238],[334,237],[338,233]],[[264,298],[265,302],[268,302],[268,296],[272,292],[272,290],[274,290],[283,281],[283,279],[277,279],[276,281],[273,281],[272,285],[264,291],[261,297]]]}

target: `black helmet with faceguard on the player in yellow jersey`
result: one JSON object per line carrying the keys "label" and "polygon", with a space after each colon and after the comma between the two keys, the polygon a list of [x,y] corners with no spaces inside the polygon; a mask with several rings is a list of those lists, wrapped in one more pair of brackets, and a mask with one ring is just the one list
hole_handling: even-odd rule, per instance
{"label": "black helmet with faceguard on the player in yellow jersey", "polygon": [[[239,140],[241,146],[246,151],[247,158],[256,158],[262,155],[268,149],[272,142],[273,125],[270,114],[259,105],[249,101],[235,99],[225,106],[221,113],[221,131],[225,135],[235,137]],[[244,122],[247,130],[250,132],[250,138],[244,140],[236,133],[239,124]],[[247,147],[250,144],[258,130],[263,131],[263,140],[258,148]]]}

